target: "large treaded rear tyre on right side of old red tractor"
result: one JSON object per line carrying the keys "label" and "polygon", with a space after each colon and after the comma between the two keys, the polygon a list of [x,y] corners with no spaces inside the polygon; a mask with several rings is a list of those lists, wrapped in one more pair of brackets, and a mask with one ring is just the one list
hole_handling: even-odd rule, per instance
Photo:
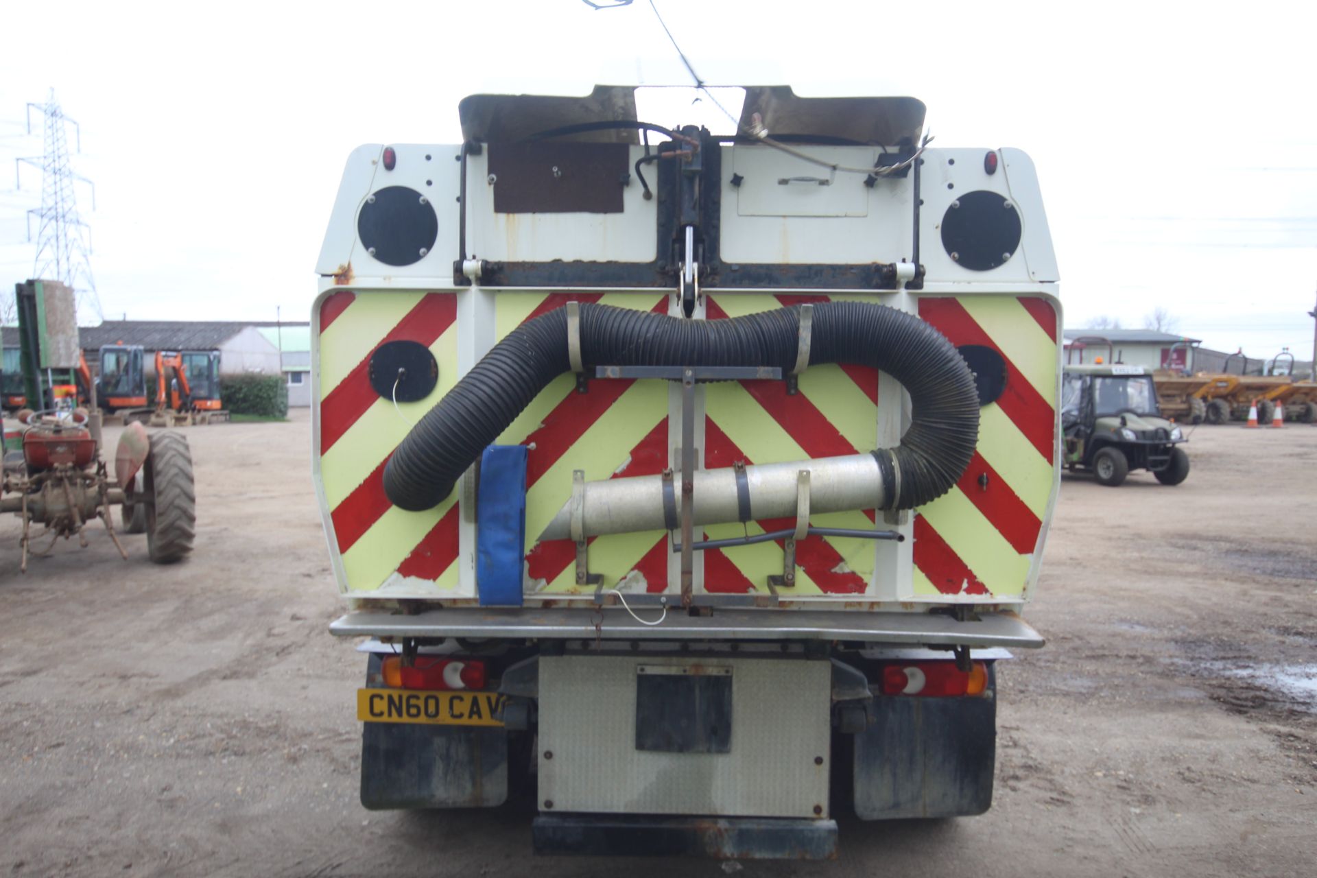
{"label": "large treaded rear tyre on right side of old red tractor", "polygon": [[151,453],[144,469],[146,552],[154,563],[173,563],[192,550],[196,534],[196,491],[187,440],[173,430],[151,433]]}

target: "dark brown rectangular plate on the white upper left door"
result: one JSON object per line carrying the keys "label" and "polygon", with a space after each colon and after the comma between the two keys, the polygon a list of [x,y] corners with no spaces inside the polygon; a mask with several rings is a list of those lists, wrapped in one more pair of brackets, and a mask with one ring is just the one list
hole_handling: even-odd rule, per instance
{"label": "dark brown rectangular plate on the white upper left door", "polygon": [[495,213],[622,213],[626,143],[490,143]]}

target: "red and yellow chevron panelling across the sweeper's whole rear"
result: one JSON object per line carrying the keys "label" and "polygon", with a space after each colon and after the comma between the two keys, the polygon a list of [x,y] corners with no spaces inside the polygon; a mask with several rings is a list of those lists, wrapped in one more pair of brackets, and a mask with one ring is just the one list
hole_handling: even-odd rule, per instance
{"label": "red and yellow chevron panelling across the sweeper's whole rear", "polygon": [[[457,496],[427,512],[403,512],[383,494],[382,474],[394,448],[425,411],[456,383],[457,292],[336,291],[319,311],[319,475],[337,548],[341,579],[350,592],[470,598],[474,573],[461,567],[462,528]],[[603,303],[666,313],[658,292],[497,291],[494,341],[566,301]],[[831,299],[884,301],[878,294]],[[768,311],[828,296],[711,294],[711,320]],[[809,537],[797,546],[793,596],[855,600],[1018,600],[1036,569],[1042,523],[1055,487],[1058,317],[1043,296],[927,296],[919,316],[954,344],[985,345],[1006,362],[1006,390],[982,408],[979,448],[960,482],[915,511],[913,590],[874,582],[874,544]],[[439,383],[424,400],[394,405],[369,383],[369,359],[394,340],[427,345],[439,362]],[[697,429],[705,467],[736,461],[766,463],[868,452],[877,445],[878,374],[857,366],[814,366],[797,394],[782,382],[703,386],[705,419]],[[527,465],[528,594],[576,595],[576,546],[539,542],[572,495],[572,473],[587,480],[655,475],[670,465],[677,445],[676,411],[665,382],[591,380],[577,392],[572,375],[552,382],[499,437],[529,448]],[[817,515],[815,525],[868,529],[873,509]],[[794,521],[765,520],[709,527],[709,538],[757,534]],[[782,571],[784,546],[764,542],[702,553],[697,586],[710,592],[763,591]],[[909,558],[909,557],[907,557]],[[468,566],[469,559],[466,559]],[[590,571],[607,587],[674,590],[665,532],[610,534],[590,541]],[[697,571],[699,569],[697,567]],[[466,583],[461,586],[461,583]],[[461,586],[461,587],[460,587]]]}

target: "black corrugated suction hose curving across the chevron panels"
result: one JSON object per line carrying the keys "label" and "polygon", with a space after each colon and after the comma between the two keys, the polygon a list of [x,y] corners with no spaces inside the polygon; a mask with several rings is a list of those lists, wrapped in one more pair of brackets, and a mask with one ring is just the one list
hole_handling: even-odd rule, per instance
{"label": "black corrugated suction hose curving across the chevron panels", "polygon": [[[946,494],[979,442],[979,394],[956,349],[918,317],[886,305],[822,303],[811,321],[811,366],[874,366],[910,392],[910,429],[901,445],[874,453],[886,508],[910,509]],[[798,329],[799,307],[684,320],[583,303],[581,361],[589,374],[595,366],[777,366],[786,374],[795,366]],[[437,505],[536,394],[570,367],[564,308],[514,329],[398,445],[385,467],[385,494],[403,509]]]}

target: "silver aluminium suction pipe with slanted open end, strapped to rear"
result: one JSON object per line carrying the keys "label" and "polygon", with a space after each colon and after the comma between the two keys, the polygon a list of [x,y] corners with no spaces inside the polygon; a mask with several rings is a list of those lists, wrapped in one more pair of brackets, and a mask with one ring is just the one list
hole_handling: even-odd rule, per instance
{"label": "silver aluminium suction pipe with slanted open end, strapped to rear", "polygon": [[[884,507],[886,498],[882,491],[882,471],[874,454],[819,457],[747,466],[747,520],[795,517],[797,479],[801,470],[810,473],[810,515]],[[673,474],[672,484],[672,499],[665,512],[661,475],[586,482],[581,503],[582,536],[674,529],[669,525],[680,505],[677,499],[681,498],[681,473]],[[695,525],[734,524],[740,520],[734,469],[695,470],[694,488]],[[570,537],[572,502],[568,502],[540,534],[540,540]]]}

